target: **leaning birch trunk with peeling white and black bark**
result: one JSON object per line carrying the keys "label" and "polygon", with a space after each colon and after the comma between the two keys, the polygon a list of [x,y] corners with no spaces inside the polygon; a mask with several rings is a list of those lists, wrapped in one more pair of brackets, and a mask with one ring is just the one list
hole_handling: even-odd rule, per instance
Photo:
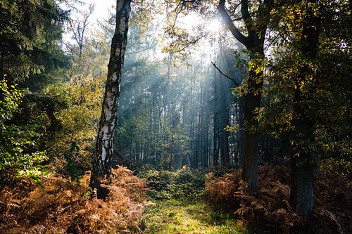
{"label": "leaning birch trunk with peeling white and black bark", "polygon": [[120,94],[121,70],[124,63],[127,45],[128,19],[131,0],[116,1],[116,26],[111,42],[111,55],[108,64],[99,131],[96,138],[96,149],[92,157],[92,177],[90,186],[97,188],[98,198],[104,199],[108,193],[99,186],[99,180],[111,173],[113,160],[113,136],[118,119],[118,97]]}

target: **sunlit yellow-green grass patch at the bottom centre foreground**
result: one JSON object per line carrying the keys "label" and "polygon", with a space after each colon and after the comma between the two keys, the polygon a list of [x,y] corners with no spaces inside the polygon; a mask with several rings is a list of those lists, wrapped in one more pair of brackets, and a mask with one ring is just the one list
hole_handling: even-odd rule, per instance
{"label": "sunlit yellow-green grass patch at the bottom centre foreground", "polygon": [[148,207],[142,218],[143,233],[148,234],[237,234],[248,233],[241,221],[219,212],[205,202],[158,201]]}

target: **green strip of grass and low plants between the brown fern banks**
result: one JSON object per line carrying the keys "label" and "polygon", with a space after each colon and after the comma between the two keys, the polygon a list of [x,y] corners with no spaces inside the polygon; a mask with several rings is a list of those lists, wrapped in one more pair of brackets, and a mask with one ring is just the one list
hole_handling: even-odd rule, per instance
{"label": "green strip of grass and low plants between the brown fern banks", "polygon": [[139,174],[149,187],[139,227],[148,234],[254,233],[231,213],[204,200],[205,173],[201,171],[144,171]]}

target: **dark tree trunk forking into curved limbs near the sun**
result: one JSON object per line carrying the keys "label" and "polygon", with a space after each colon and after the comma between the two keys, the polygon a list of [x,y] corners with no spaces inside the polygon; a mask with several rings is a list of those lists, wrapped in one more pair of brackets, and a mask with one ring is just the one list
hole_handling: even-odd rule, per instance
{"label": "dark tree trunk forking into curved limbs near the sun", "polygon": [[244,170],[242,178],[249,184],[249,191],[257,190],[258,179],[258,121],[256,120],[255,110],[260,108],[261,88],[263,86],[263,70],[256,72],[258,66],[263,65],[264,59],[264,39],[265,33],[270,20],[270,10],[272,0],[264,0],[258,10],[261,22],[256,24],[249,13],[248,0],[241,0],[241,18],[244,20],[248,36],[241,34],[239,29],[234,25],[230,15],[225,10],[225,0],[220,0],[218,12],[227,25],[228,30],[232,33],[241,44],[246,46],[249,51],[249,57],[253,61],[254,67],[249,71],[247,80],[247,91],[244,95]]}

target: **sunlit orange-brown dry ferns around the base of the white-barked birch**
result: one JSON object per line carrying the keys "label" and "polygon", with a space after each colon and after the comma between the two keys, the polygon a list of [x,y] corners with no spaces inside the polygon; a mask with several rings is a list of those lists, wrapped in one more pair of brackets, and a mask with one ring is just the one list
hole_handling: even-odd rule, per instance
{"label": "sunlit orange-brown dry ferns around the base of the white-barked birch", "polygon": [[113,169],[106,202],[89,196],[89,173],[79,183],[53,173],[42,185],[23,180],[0,195],[4,233],[132,233],[144,211],[145,182],[125,167]]}

